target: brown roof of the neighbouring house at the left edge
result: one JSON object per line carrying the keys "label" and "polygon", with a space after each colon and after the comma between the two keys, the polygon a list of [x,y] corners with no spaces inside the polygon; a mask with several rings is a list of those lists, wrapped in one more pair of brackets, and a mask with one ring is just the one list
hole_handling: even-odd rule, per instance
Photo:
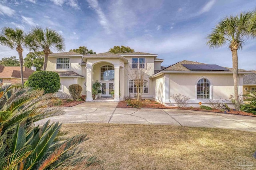
{"label": "brown roof of the neighbouring house at the left edge", "polygon": [[[28,79],[33,72],[34,70],[23,67],[23,78]],[[20,66],[0,65],[0,78],[20,78]]]}

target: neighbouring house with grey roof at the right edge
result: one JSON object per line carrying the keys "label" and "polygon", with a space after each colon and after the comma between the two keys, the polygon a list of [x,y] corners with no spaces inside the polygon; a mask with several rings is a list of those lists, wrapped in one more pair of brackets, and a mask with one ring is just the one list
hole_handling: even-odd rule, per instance
{"label": "neighbouring house with grey roof at the right edge", "polygon": [[244,75],[243,94],[249,92],[256,92],[256,73]]}

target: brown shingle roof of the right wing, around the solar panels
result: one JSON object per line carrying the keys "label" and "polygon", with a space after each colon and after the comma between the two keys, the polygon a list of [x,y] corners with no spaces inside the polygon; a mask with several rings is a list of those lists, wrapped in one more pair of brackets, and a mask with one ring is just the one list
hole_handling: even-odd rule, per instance
{"label": "brown shingle roof of the right wing, around the solar panels", "polygon": [[[184,67],[182,64],[205,64],[205,63],[183,60],[176,64],[172,64],[172,65],[164,68],[163,70],[164,71],[192,71],[192,70],[189,70],[188,68]],[[232,68],[228,68],[228,67],[224,67],[224,68],[227,68],[229,71],[233,71]],[[246,70],[238,69],[238,72],[243,72],[243,71],[246,71]]]}

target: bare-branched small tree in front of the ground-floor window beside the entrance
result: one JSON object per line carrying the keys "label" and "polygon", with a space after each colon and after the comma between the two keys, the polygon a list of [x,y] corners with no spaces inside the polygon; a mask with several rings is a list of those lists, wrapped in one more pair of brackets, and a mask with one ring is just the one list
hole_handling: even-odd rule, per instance
{"label": "bare-branched small tree in front of the ground-floor window beside the entrance", "polygon": [[142,100],[142,93],[144,89],[144,85],[148,83],[148,78],[149,78],[149,72],[151,69],[151,66],[148,66],[147,63],[144,64],[145,68],[131,68],[129,66],[129,70],[127,70],[128,75],[127,78],[128,80],[133,80],[134,81],[134,88],[136,88],[136,100]]}

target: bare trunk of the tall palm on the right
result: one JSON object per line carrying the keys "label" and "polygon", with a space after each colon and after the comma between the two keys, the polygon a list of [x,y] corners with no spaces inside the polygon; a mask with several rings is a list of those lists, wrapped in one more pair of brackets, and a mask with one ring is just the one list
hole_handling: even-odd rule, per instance
{"label": "bare trunk of the tall palm on the right", "polygon": [[239,94],[238,94],[238,85],[237,85],[237,76],[238,76],[238,56],[237,48],[231,49],[232,51],[232,63],[233,63],[233,78],[234,78],[234,90],[235,90],[235,107],[236,110],[240,110],[239,107]]}

